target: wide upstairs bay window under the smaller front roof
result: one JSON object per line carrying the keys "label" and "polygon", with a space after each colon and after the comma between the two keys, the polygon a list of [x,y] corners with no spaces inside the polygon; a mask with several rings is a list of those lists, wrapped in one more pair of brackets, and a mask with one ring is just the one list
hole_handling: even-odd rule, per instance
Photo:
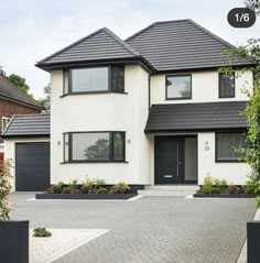
{"label": "wide upstairs bay window under the smaller front roof", "polygon": [[75,68],[64,72],[64,94],[124,92],[123,67]]}

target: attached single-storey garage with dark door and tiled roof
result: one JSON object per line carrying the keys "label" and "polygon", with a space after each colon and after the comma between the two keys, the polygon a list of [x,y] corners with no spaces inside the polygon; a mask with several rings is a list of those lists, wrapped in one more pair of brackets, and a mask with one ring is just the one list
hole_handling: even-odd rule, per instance
{"label": "attached single-storey garage with dark door and tiled roof", "polygon": [[13,190],[50,187],[50,114],[13,116],[2,134],[4,160],[12,163]]}

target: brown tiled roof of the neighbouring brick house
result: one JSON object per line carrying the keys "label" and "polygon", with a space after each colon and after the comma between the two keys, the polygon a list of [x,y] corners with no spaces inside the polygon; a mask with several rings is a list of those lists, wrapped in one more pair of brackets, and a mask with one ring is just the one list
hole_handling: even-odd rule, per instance
{"label": "brown tiled roof of the neighbouring brick house", "polygon": [[22,92],[15,85],[2,75],[0,75],[0,98],[25,103],[29,107],[43,109],[43,107],[35,99]]}

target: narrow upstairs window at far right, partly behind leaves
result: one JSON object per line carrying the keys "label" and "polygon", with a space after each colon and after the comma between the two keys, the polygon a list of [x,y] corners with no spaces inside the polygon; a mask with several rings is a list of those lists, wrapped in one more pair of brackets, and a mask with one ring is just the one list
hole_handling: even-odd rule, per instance
{"label": "narrow upstairs window at far right, partly behind leaves", "polygon": [[219,98],[234,98],[235,97],[235,73],[225,74],[219,73]]}

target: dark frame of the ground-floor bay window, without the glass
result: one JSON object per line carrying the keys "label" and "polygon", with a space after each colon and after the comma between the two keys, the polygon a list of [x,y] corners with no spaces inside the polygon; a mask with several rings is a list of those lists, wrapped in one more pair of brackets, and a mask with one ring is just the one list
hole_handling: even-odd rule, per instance
{"label": "dark frame of the ground-floor bay window, without the glass", "polygon": [[[73,160],[73,134],[109,133],[109,158],[108,160]],[[115,133],[123,135],[123,158],[115,160],[113,138]],[[65,160],[65,135],[68,134],[68,160]],[[74,131],[63,133],[63,163],[127,163],[126,162],[126,131]]]}

